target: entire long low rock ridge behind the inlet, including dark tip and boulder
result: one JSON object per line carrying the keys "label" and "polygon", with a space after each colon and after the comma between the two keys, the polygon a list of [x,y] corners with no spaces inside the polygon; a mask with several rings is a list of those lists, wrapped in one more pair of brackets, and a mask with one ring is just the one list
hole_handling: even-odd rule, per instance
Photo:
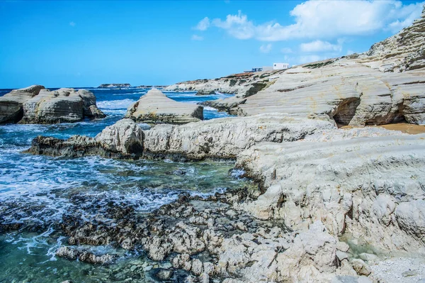
{"label": "entire long low rock ridge behind the inlet, including dark tip and boulder", "polygon": [[[234,159],[239,152],[256,143],[295,141],[312,135],[318,129],[336,128],[329,118],[323,118],[322,120],[288,117],[276,113],[273,116],[220,118],[181,126],[164,124],[157,125],[149,131],[142,131],[132,119],[125,118],[105,128],[96,138],[77,136],[78,138],[59,140],[38,137],[33,141],[29,152],[52,156],[75,156],[69,151],[72,149],[72,143],[76,143],[76,148],[79,149],[84,149],[84,143],[88,143],[89,148],[100,147],[102,150],[119,152],[122,156],[117,155],[118,158],[135,154],[190,160]],[[80,143],[81,139],[83,144]],[[71,148],[68,148],[69,146]],[[82,152],[78,156],[86,154],[84,150],[76,151]],[[96,154],[92,150],[89,152],[87,153],[89,155]],[[105,153],[100,155],[108,157]]]}

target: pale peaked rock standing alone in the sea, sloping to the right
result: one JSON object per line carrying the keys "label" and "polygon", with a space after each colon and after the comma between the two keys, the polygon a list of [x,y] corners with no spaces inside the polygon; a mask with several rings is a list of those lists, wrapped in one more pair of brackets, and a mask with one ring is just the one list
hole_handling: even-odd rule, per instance
{"label": "pale peaked rock standing alone in the sea, sloping to the right", "polygon": [[143,123],[184,124],[203,120],[203,107],[174,101],[151,89],[128,108],[125,117]]}

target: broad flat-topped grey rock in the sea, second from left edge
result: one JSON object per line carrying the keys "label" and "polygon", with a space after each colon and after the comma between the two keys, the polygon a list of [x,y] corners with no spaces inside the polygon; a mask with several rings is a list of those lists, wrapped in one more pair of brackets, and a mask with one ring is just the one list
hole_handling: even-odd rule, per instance
{"label": "broad flat-topped grey rock in the sea, second from left edge", "polygon": [[23,103],[23,118],[19,123],[78,122],[84,118],[104,118],[96,106],[96,96],[85,89],[42,89]]}

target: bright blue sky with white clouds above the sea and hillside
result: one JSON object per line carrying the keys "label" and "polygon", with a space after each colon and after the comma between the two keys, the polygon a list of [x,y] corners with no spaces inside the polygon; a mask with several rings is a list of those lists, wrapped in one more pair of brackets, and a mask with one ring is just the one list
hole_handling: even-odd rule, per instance
{"label": "bright blue sky with white clouds above the sea and hillside", "polygon": [[0,1],[0,88],[172,84],[363,52],[419,1]]}

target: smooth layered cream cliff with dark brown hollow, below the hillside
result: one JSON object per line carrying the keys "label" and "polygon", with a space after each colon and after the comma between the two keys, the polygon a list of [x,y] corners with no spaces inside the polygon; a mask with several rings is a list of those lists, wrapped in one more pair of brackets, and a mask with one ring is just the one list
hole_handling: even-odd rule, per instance
{"label": "smooth layered cream cliff with dark brown hollow, below the hillside", "polygon": [[297,67],[237,106],[239,115],[256,113],[327,114],[336,123],[381,125],[425,120],[425,70],[382,73],[340,59],[319,68]]}

